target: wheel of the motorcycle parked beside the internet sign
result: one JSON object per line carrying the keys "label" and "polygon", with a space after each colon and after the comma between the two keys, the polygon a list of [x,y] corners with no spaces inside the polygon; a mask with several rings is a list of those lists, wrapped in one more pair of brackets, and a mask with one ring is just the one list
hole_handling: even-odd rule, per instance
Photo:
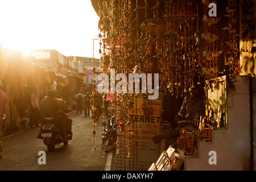
{"label": "wheel of the motorcycle parked beside the internet sign", "polygon": [[117,147],[117,131],[108,131],[105,137],[106,142],[102,140],[102,149],[104,150],[105,148],[105,152],[111,152],[115,150],[115,148]]}

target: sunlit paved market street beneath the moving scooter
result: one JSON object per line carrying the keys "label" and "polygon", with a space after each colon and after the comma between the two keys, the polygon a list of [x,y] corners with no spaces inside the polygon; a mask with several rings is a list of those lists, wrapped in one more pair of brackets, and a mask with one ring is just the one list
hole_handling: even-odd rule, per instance
{"label": "sunlit paved market street beneath the moving scooter", "polygon": [[[61,143],[55,146],[55,150],[49,152],[43,140],[36,138],[39,128],[20,131],[14,135],[3,138],[3,159],[0,160],[0,170],[7,171],[104,171],[114,170],[114,155],[106,153],[102,157],[101,120],[96,126],[96,151],[93,148],[92,118],[84,117],[84,114],[69,114],[73,119],[73,138],[67,146]],[[39,151],[46,152],[46,164],[39,164]],[[109,158],[108,158],[109,155]],[[111,160],[112,159],[112,160]],[[107,162],[107,165],[106,165]],[[110,168],[111,166],[111,168]]]}

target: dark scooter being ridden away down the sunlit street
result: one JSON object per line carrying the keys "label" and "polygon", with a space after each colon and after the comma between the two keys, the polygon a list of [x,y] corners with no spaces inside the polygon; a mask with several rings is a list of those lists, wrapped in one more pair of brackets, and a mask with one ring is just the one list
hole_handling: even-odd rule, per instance
{"label": "dark scooter being ridden away down the sunlit street", "polygon": [[[43,122],[44,123],[44,122]],[[59,146],[60,143],[68,144],[68,140],[72,139],[72,133],[68,138],[64,138],[64,133],[51,124],[51,120],[44,124],[41,131],[41,139],[47,145],[49,151],[55,150],[55,145]]]}

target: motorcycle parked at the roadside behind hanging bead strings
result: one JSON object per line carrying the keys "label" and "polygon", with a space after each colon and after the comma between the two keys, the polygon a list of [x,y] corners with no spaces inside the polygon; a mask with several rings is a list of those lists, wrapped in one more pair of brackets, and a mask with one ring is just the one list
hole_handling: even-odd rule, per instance
{"label": "motorcycle parked at the roadside behind hanging bead strings", "polygon": [[105,149],[105,152],[111,152],[117,147],[117,121],[115,117],[112,116],[108,119],[108,130],[104,131],[102,136],[102,149]]}

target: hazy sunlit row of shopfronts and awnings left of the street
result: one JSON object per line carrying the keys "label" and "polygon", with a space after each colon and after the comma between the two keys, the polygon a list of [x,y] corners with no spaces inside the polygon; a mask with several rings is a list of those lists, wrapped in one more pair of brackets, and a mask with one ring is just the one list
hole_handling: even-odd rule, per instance
{"label": "hazy sunlit row of shopfronts and awnings left of the street", "polygon": [[37,88],[39,103],[48,96],[50,89],[55,89],[59,98],[71,104],[72,94],[79,90],[81,84],[72,60],[65,59],[55,50],[22,52],[3,49],[0,67],[3,90],[9,96],[11,132],[20,129],[18,102],[22,100],[29,106],[34,88]]}

